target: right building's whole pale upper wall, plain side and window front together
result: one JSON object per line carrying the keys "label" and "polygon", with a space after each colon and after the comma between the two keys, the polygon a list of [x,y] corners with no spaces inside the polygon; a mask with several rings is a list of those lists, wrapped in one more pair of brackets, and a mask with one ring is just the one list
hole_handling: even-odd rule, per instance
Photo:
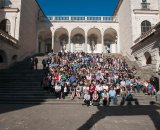
{"label": "right building's whole pale upper wall, plain side and window front together", "polygon": [[[141,35],[141,23],[144,20],[151,22],[152,26],[159,22],[160,0],[147,0],[150,3],[149,10],[142,10],[142,0],[120,0],[117,16],[119,18],[120,48],[123,55],[131,60],[131,47],[134,41]],[[119,2],[119,3],[120,3]],[[125,51],[124,51],[125,50]]]}

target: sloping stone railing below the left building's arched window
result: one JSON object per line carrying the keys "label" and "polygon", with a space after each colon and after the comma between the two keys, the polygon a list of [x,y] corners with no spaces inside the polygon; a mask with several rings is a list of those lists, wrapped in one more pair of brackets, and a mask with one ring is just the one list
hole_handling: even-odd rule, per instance
{"label": "sloping stone railing below the left building's arched window", "polygon": [[12,46],[18,47],[18,40],[9,35],[8,33],[0,30],[0,38],[7,40],[7,43],[11,44]]}

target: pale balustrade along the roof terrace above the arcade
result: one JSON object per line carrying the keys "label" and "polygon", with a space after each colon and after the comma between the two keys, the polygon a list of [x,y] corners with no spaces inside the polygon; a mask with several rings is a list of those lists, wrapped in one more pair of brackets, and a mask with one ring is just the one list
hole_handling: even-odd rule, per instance
{"label": "pale balustrade along the roof terrace above the arcade", "polygon": [[48,16],[42,21],[86,21],[86,22],[118,22],[116,16]]}

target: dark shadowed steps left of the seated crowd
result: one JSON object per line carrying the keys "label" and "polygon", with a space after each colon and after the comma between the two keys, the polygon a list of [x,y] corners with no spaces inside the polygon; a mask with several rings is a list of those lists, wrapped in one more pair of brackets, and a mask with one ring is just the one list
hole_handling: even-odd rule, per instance
{"label": "dark shadowed steps left of the seated crowd", "polygon": [[30,69],[29,59],[1,70],[0,103],[40,103],[51,98],[40,86],[43,76],[43,70]]}

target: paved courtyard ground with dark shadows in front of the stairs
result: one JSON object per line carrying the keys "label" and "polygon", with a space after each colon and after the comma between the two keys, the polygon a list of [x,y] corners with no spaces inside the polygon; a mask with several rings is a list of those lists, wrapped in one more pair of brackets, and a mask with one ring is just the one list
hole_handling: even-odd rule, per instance
{"label": "paved courtyard ground with dark shadows in front of the stairs", "polygon": [[160,105],[0,104],[0,130],[160,130]]}

